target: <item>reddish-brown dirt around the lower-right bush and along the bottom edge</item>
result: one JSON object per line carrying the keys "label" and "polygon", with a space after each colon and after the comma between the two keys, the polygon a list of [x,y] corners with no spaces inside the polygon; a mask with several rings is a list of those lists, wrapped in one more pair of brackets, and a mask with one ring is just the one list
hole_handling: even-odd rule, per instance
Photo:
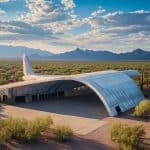
{"label": "reddish-brown dirt around the lower-right bush and along the bottom edge", "polygon": [[[7,147],[9,150],[118,150],[118,145],[113,143],[109,136],[109,130],[114,120],[119,120],[129,125],[142,124],[146,132],[144,143],[150,146],[150,123],[130,118],[129,114],[130,112],[117,118],[106,117],[102,119],[107,122],[104,126],[97,128],[87,135],[74,135],[71,141],[65,143],[57,142],[55,138],[48,136],[41,139],[38,143],[28,145],[12,141],[7,143]],[[144,149],[142,148],[141,150]]]}

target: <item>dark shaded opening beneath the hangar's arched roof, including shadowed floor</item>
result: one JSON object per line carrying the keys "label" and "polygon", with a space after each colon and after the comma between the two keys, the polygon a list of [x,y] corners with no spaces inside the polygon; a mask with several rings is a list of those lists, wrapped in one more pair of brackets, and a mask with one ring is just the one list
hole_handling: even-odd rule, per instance
{"label": "dark shaded opening beneath the hangar's arched roof, including shadowed floor", "polygon": [[[39,90],[38,93],[30,96],[32,96],[32,101],[38,99],[40,104],[26,103],[19,106],[61,114],[61,117],[67,115],[100,119],[108,116],[103,102],[95,91],[78,81],[51,81],[46,87],[43,86],[42,91]],[[17,97],[17,101],[23,101],[23,99],[23,97]]]}

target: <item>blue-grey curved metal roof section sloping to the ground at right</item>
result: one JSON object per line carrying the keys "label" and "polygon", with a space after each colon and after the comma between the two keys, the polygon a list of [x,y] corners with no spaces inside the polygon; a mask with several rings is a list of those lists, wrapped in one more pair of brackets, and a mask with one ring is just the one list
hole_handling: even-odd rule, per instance
{"label": "blue-grey curved metal roof section sloping to the ground at right", "polygon": [[115,107],[119,106],[125,112],[144,98],[134,80],[125,72],[104,71],[74,79],[86,84],[99,96],[110,116],[118,114]]}

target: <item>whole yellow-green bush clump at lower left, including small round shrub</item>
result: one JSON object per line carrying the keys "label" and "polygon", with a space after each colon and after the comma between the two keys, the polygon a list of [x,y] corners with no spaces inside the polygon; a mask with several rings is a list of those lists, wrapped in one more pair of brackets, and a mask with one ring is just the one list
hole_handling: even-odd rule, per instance
{"label": "whole yellow-green bush clump at lower left, including small round shrub", "polygon": [[16,140],[21,143],[32,143],[41,139],[44,134],[52,134],[61,142],[70,140],[73,132],[69,126],[54,125],[50,116],[33,120],[8,117],[0,120],[0,149],[5,143]]}

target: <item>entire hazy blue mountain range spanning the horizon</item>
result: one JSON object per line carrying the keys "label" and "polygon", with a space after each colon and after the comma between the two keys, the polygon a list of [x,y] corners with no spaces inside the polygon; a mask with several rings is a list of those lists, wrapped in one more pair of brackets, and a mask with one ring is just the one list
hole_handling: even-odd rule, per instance
{"label": "entire hazy blue mountain range spanning the horizon", "polygon": [[32,49],[20,46],[2,46],[0,45],[0,59],[18,59],[23,54],[27,54],[33,59],[50,59],[66,61],[120,61],[120,60],[150,60],[150,51],[136,49],[132,52],[113,53],[107,50],[82,50],[77,48],[73,51],[53,54],[40,49]]}

